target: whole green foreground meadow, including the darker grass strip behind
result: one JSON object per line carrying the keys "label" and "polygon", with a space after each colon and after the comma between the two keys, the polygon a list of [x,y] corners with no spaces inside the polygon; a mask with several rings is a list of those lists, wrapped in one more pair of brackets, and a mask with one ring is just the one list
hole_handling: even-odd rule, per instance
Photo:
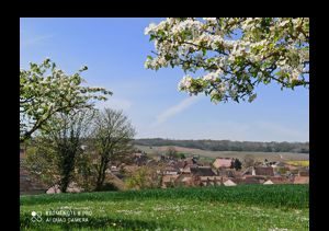
{"label": "whole green foreground meadow, including the darker grass strip behind", "polygon": [[[309,230],[308,192],[241,185],[21,196],[21,230]],[[88,212],[71,223],[75,216],[46,216],[58,210]],[[33,222],[32,211],[43,220]]]}

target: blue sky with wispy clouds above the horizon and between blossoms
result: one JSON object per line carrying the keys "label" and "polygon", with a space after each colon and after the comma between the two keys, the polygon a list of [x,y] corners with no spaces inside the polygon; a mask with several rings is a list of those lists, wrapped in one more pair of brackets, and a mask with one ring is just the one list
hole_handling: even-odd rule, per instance
{"label": "blue sky with wispy clouds above the horizon and between blossoms", "polygon": [[154,44],[144,28],[161,19],[21,19],[20,62],[49,57],[67,73],[88,66],[89,85],[114,94],[98,107],[123,109],[136,138],[308,141],[309,91],[260,85],[252,103],[219,103],[177,90],[180,69],[144,68]]}

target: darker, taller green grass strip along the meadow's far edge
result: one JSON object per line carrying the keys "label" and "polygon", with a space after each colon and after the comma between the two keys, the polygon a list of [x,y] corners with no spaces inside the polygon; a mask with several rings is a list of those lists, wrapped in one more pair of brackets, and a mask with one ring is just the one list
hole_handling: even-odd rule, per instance
{"label": "darker, taller green grass strip along the meadow's far edge", "polygon": [[57,194],[21,196],[21,206],[45,205],[63,201],[117,201],[139,199],[208,200],[262,205],[268,207],[308,208],[308,185],[238,185],[234,187],[168,188],[126,192],[101,192],[81,194]]}

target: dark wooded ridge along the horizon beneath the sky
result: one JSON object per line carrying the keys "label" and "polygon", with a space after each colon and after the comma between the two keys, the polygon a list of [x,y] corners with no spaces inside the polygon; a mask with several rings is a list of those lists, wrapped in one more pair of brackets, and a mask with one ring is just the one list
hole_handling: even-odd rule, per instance
{"label": "dark wooded ridge along the horizon beneath the sky", "polygon": [[173,140],[173,139],[135,139],[140,146],[179,146],[211,151],[256,151],[256,152],[295,152],[309,153],[309,142],[252,142],[230,140]]}

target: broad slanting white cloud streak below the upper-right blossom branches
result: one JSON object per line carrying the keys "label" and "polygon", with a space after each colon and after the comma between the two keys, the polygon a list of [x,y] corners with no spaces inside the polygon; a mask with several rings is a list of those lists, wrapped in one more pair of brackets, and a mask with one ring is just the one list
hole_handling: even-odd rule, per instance
{"label": "broad slanting white cloud streak below the upper-right blossom branches", "polygon": [[154,123],[151,125],[151,127],[155,127],[155,126],[163,124],[169,118],[174,117],[177,114],[179,114],[179,113],[183,112],[184,109],[189,108],[197,100],[198,100],[198,97],[196,97],[196,96],[190,96],[190,97],[181,101],[179,104],[173,105],[173,106],[167,108],[166,111],[163,111],[162,113],[160,113],[157,116],[157,120],[156,120],[156,123]]}

